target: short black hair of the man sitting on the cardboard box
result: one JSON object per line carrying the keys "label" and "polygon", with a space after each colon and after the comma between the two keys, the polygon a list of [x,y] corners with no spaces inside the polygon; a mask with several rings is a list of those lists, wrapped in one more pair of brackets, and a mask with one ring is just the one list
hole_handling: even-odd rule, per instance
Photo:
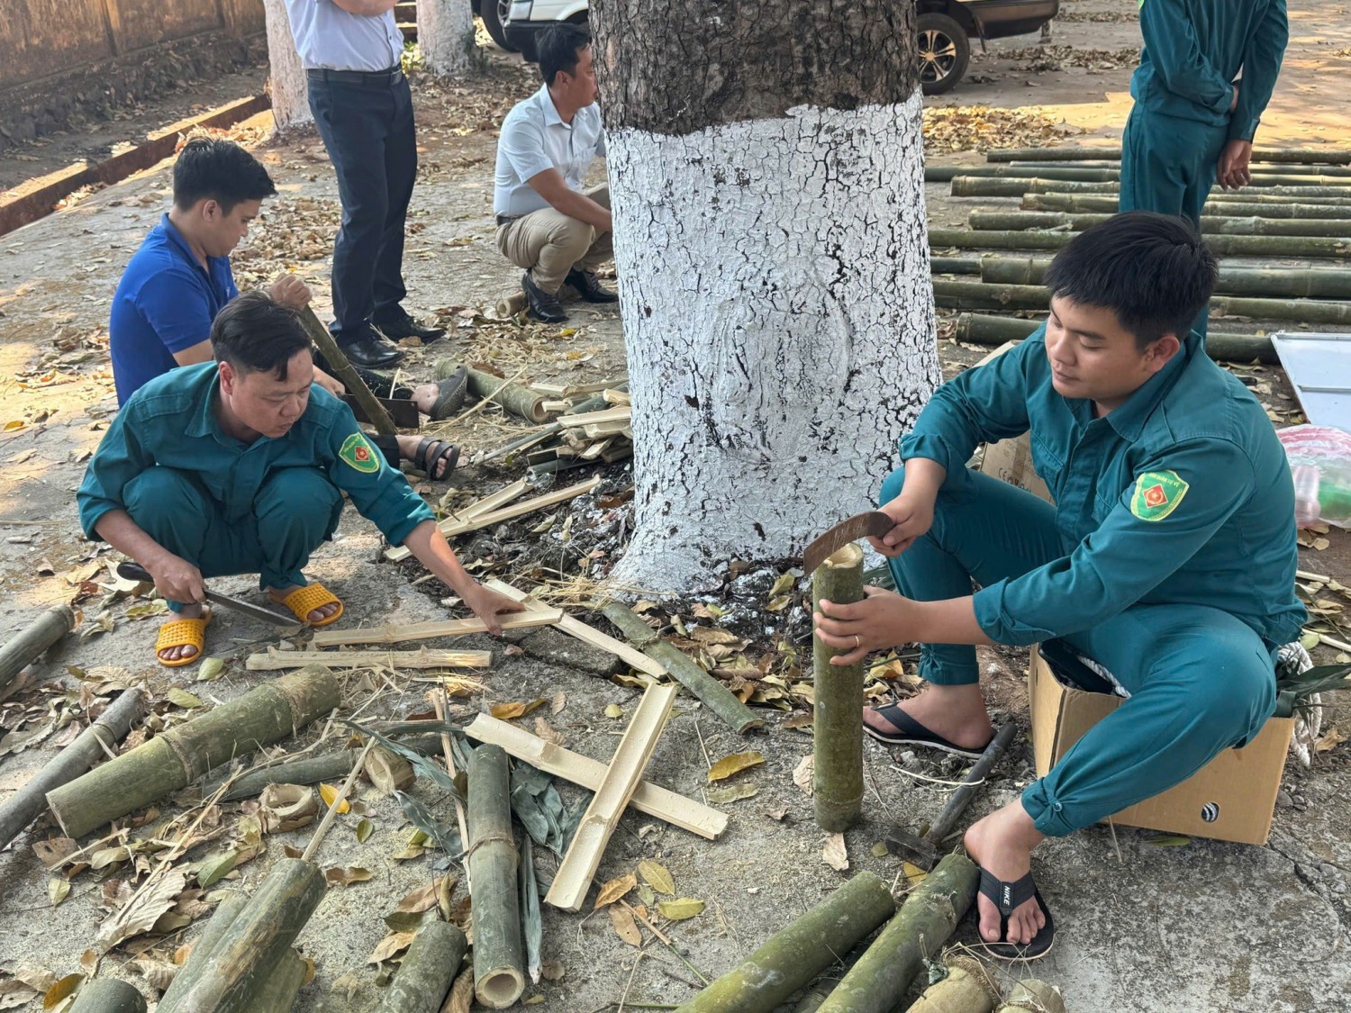
{"label": "short black hair of the man sitting on the cardboard box", "polygon": [[1186,219],[1127,211],[1074,236],[1047,267],[1046,288],[1111,309],[1144,351],[1166,334],[1186,340],[1219,270]]}

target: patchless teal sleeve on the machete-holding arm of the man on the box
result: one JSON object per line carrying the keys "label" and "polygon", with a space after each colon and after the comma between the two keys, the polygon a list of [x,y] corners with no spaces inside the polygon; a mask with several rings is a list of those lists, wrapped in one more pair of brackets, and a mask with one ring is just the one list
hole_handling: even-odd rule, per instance
{"label": "patchless teal sleeve on the machete-holding arm of the man on the box", "polygon": [[1016,348],[973,366],[934,392],[915,428],[901,440],[901,459],[928,458],[954,475],[981,443],[1028,431],[1027,362],[1044,357],[1042,330]]}

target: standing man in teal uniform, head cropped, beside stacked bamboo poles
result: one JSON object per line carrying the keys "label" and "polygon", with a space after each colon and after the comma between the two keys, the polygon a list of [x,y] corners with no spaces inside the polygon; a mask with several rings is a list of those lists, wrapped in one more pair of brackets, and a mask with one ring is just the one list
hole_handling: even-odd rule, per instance
{"label": "standing man in teal uniform, head cropped, beside stacked bamboo poles", "polygon": [[1213,184],[1251,181],[1252,136],[1289,35],[1285,0],[1140,0],[1140,34],[1120,209],[1182,215],[1200,228]]}

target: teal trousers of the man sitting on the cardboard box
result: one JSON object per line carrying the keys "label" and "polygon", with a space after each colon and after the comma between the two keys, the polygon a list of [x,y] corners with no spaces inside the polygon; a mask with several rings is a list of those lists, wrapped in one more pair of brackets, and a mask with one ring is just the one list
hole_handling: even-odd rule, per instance
{"label": "teal trousers of the man sitting on the cardboard box", "polygon": [[[901,490],[904,469],[882,485]],[[917,601],[959,598],[1063,559],[1055,508],[977,471],[950,475],[929,532],[888,561]],[[1104,666],[1131,697],[1023,791],[1036,828],[1063,836],[1166,791],[1221,751],[1243,746],[1275,709],[1275,650],[1219,609],[1133,605],[1062,638]],[[979,679],[975,648],[923,644],[920,675],[938,685]]]}

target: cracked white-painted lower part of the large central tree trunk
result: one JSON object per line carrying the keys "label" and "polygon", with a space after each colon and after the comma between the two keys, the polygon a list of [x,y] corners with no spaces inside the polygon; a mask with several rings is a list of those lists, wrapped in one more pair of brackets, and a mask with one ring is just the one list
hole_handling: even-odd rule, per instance
{"label": "cracked white-painted lower part of the large central tree trunk", "polygon": [[611,581],[689,590],[869,509],[940,381],[920,95],[607,134],[635,534]]}

